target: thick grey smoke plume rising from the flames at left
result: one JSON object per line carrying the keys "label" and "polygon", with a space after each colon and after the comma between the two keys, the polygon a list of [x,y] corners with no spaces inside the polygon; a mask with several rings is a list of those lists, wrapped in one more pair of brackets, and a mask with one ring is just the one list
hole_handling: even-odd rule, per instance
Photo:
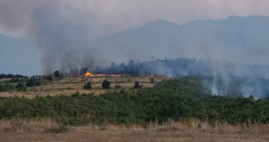
{"label": "thick grey smoke plume rising from the flames at left", "polygon": [[[83,7],[84,3],[62,0],[1,1],[0,26],[11,32],[23,29],[24,37],[38,45],[42,52],[43,74],[81,66],[91,68],[105,60],[98,56],[100,52],[90,47],[89,43],[96,38],[97,32],[93,28],[96,20],[88,7]],[[97,57],[99,60],[96,60]]]}

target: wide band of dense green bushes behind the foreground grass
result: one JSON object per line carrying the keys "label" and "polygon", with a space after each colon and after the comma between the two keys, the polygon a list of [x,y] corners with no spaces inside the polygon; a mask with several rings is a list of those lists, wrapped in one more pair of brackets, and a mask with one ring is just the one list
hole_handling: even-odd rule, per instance
{"label": "wide band of dense green bushes behind the foreground grass", "polygon": [[100,95],[0,97],[0,120],[52,117],[63,126],[148,124],[200,119],[211,124],[269,123],[269,99],[212,96],[201,77],[168,79],[153,88]]}

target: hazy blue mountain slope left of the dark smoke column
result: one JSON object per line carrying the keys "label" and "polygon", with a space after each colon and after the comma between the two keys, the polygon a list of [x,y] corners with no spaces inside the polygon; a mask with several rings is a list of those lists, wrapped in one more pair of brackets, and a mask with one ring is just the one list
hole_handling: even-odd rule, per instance
{"label": "hazy blue mountain slope left of the dark smoke column", "polygon": [[0,34],[0,74],[40,74],[40,53],[29,40]]}

